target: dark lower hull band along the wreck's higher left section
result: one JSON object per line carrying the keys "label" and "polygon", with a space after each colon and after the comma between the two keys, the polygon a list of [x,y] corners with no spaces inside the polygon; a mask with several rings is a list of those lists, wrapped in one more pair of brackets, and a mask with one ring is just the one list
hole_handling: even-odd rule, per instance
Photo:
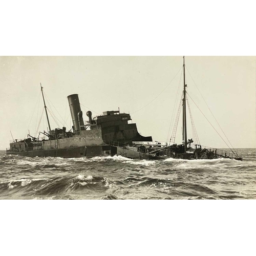
{"label": "dark lower hull band along the wreck's higher left section", "polygon": [[110,154],[110,146],[93,145],[93,146],[77,146],[68,148],[58,148],[54,150],[33,150],[33,151],[7,151],[7,155],[20,155],[26,157],[95,157]]}

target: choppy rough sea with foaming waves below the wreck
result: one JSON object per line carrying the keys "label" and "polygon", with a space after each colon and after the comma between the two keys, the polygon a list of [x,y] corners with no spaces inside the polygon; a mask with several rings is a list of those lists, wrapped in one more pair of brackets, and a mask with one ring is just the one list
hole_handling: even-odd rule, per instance
{"label": "choppy rough sea with foaming waves below the wreck", "polygon": [[243,161],[29,158],[0,151],[0,199],[256,199],[255,148]]}

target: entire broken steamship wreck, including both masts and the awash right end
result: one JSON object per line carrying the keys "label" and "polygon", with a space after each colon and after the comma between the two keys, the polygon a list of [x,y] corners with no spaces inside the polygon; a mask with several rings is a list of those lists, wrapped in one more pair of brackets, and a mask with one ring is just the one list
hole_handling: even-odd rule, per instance
{"label": "entire broken steamship wreck, including both masts and the awash right end", "polygon": [[[49,133],[41,132],[46,137],[39,139],[28,134],[24,140],[13,140],[6,154],[15,154],[28,157],[95,157],[106,155],[121,155],[132,159],[160,160],[166,158],[177,159],[217,159],[229,158],[243,160],[234,148],[229,147],[230,152],[221,149],[205,147],[199,142],[195,124],[191,117],[195,144],[193,139],[187,138],[186,105],[189,96],[186,92],[185,82],[185,57],[183,56],[183,92],[179,103],[178,113],[170,142],[153,142],[152,137],[143,137],[137,131],[136,123],[128,123],[132,120],[130,114],[118,111],[106,111],[103,115],[92,118],[92,112],[88,111],[89,121],[83,122],[77,94],[68,96],[73,131],[66,132],[66,127],[51,130],[47,114],[44,93],[45,112],[48,121]],[[190,96],[189,96],[190,97]],[[182,110],[182,111],[181,111]],[[182,144],[175,143],[179,115],[182,112]],[[191,116],[191,113],[190,113]],[[173,140],[173,141],[171,141]],[[230,142],[229,142],[230,143]],[[231,145],[231,144],[230,144]]]}

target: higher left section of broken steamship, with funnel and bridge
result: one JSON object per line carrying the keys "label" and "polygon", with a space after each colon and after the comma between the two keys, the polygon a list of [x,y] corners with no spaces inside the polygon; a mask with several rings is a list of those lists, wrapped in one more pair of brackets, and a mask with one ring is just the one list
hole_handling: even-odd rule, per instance
{"label": "higher left section of broken steamship, with funnel and bridge", "polygon": [[[44,93],[41,87],[42,98]],[[132,144],[132,141],[152,141],[152,137],[143,137],[137,131],[136,123],[128,123],[130,114],[118,111],[106,111],[103,115],[92,118],[88,111],[89,121],[84,123],[78,94],[68,96],[72,131],[62,129],[51,130],[47,107],[44,99],[49,133],[40,132],[46,137],[39,139],[28,134],[27,139],[13,140],[7,155],[21,155],[27,157],[95,157],[111,155],[111,141]]]}

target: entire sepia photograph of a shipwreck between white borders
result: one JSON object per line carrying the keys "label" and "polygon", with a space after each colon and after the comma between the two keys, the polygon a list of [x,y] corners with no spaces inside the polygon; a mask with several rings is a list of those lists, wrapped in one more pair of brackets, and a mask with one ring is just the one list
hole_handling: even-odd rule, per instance
{"label": "entire sepia photograph of a shipwreck between white borders", "polygon": [[0,61],[1,199],[256,198],[255,57]]}

